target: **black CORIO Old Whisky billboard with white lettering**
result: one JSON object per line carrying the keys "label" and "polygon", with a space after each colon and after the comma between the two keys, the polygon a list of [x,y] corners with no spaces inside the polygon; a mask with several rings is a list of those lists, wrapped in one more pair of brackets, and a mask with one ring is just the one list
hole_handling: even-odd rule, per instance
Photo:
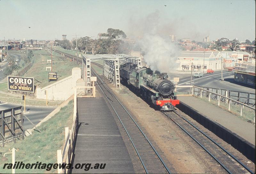
{"label": "black CORIO Old Whisky billboard with white lettering", "polygon": [[35,92],[33,77],[8,76],[8,90],[20,92]]}

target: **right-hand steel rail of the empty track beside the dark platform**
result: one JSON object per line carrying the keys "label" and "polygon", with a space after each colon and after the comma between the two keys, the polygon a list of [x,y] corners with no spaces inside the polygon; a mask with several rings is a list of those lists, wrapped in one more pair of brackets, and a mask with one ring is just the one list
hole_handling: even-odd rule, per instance
{"label": "right-hand steel rail of the empty track beside the dark platform", "polygon": [[132,116],[130,115],[130,113],[125,109],[125,107],[122,105],[122,103],[116,98],[116,96],[108,89],[108,87],[105,85],[105,83],[100,79],[100,77],[95,73],[95,71],[92,69],[93,73],[98,77],[98,79],[101,81],[101,83],[103,84],[103,86],[107,89],[107,91],[116,99],[116,101],[124,108],[125,112],[129,115],[129,117],[132,119],[133,123],[136,125],[136,127],[140,130],[141,134],[143,135],[144,138],[146,138],[148,144],[151,146],[151,148],[153,149],[153,151],[155,152],[156,156],[158,157],[158,159],[160,160],[160,162],[163,164],[165,170],[168,173],[171,173],[171,171],[168,169],[168,167],[166,166],[166,164],[164,163],[163,159],[160,157],[160,155],[157,153],[156,149],[154,148],[154,146],[151,144],[151,142],[149,141],[148,137],[144,134],[144,132],[140,129],[139,125],[135,122],[135,120],[132,118]]}

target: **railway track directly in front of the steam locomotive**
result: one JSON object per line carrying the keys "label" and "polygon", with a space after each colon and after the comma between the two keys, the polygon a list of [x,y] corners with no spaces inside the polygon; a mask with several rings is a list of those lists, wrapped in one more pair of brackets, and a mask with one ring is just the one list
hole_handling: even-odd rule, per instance
{"label": "railway track directly in front of the steam locomotive", "polygon": [[254,173],[212,138],[200,131],[194,124],[190,123],[184,117],[185,114],[181,111],[176,110],[162,113],[188,134],[188,136],[202,147],[227,173]]}

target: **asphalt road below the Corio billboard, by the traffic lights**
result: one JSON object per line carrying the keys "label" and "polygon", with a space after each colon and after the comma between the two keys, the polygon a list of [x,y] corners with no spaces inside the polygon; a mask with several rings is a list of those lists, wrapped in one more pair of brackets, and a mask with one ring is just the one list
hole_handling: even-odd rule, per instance
{"label": "asphalt road below the Corio billboard, by the traffic lights", "polygon": [[[20,105],[12,103],[2,103],[0,102],[0,110],[18,107]],[[48,114],[50,114],[56,107],[39,107],[39,106],[26,106],[26,113],[24,113],[32,123],[35,125],[44,119]],[[25,129],[31,129],[34,126],[24,118],[23,126]]]}

